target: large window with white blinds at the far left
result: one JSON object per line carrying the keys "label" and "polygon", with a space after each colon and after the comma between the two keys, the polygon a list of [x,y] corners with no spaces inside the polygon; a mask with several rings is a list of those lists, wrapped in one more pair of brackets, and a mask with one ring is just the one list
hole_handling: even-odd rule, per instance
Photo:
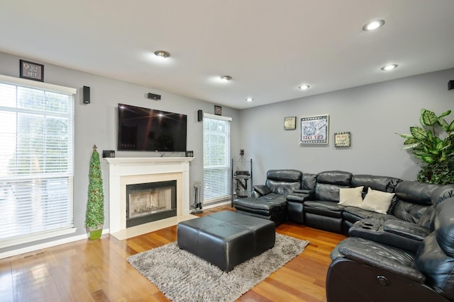
{"label": "large window with white blinds at the far left", "polygon": [[0,247],[73,227],[76,91],[55,88],[0,76]]}

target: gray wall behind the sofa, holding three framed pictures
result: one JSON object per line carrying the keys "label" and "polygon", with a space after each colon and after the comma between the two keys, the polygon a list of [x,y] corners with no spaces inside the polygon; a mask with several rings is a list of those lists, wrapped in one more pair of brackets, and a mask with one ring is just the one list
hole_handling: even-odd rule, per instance
{"label": "gray wall behind the sofa, holding three framed pictures", "polygon": [[[404,67],[402,67],[404,68]],[[403,151],[404,139],[419,125],[421,108],[440,115],[452,110],[454,91],[448,81],[454,69],[349,88],[240,111],[241,144],[254,161],[255,185],[270,169],[294,168],[305,173],[345,170],[414,180],[419,162]],[[284,117],[328,114],[329,144],[300,146],[300,123],[284,130]],[[446,120],[454,120],[454,113]],[[334,147],[335,132],[351,132],[350,148]]]}

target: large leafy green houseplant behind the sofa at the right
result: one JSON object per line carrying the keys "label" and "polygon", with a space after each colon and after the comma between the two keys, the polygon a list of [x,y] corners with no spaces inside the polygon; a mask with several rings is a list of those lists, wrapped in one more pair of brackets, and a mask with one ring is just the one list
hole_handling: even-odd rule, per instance
{"label": "large leafy green houseplant behind the sofa at the right", "polygon": [[423,161],[418,180],[435,184],[454,183],[454,121],[444,117],[451,110],[437,116],[431,110],[421,109],[421,127],[410,127],[410,134],[399,134],[406,139],[404,149],[412,149],[413,155]]}

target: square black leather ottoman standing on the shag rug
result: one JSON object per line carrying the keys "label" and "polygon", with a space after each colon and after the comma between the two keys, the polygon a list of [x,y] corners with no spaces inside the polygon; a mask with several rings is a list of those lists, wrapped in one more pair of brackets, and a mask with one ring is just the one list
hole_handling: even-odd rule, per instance
{"label": "square black leather ottoman standing on the shag rug", "polygon": [[182,221],[177,226],[179,248],[226,272],[272,248],[275,239],[275,223],[233,211]]}

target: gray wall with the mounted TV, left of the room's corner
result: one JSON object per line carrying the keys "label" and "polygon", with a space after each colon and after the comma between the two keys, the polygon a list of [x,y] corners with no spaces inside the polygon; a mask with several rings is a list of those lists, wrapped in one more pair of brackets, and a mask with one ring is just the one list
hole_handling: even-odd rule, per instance
{"label": "gray wall with the mounted TV, left of the room's corner", "polygon": [[[34,59],[16,57],[0,52],[0,74],[6,76],[19,75],[19,59]],[[170,112],[178,112],[188,116],[187,119],[187,149],[194,151],[194,160],[190,163],[190,184],[194,180],[203,180],[203,123],[197,122],[197,110],[214,113],[214,104],[201,100],[175,95],[157,89],[133,85],[123,81],[116,81],[102,76],[95,76],[73,69],[44,64],[44,81],[61,86],[77,88],[75,109],[75,158],[74,158],[74,226],[77,233],[85,233],[84,221],[88,197],[88,173],[92,146],[96,144],[101,154],[102,150],[116,150],[117,135],[117,106],[126,103],[145,108],[153,108]],[[82,102],[82,86],[89,86],[91,103]],[[162,100],[148,100],[148,92],[162,95]],[[232,117],[231,149],[238,150],[238,110],[222,106],[222,114]],[[237,153],[232,151],[232,153]],[[118,157],[148,157],[160,156],[156,152],[116,151]],[[184,153],[164,153],[164,156],[184,156]],[[104,160],[101,160],[104,180],[105,214],[104,228],[109,228],[109,170]],[[74,235],[72,235],[74,236]],[[45,240],[37,243],[43,243]],[[23,248],[16,246],[15,248]],[[11,249],[2,249],[6,252]]]}

